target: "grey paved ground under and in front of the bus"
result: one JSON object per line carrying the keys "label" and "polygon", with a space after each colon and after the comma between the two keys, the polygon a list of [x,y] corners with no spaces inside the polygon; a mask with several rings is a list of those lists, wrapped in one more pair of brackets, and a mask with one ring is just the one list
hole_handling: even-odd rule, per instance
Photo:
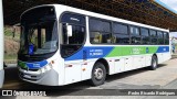
{"label": "grey paved ground under and in front of the bus", "polygon": [[[44,89],[51,90],[50,96],[55,96],[56,98],[67,99],[67,98],[85,98],[90,99],[93,96],[74,96],[71,95],[82,95],[85,92],[102,91],[96,89],[177,89],[177,58],[170,59],[164,64],[160,64],[156,70],[148,70],[147,68],[142,68],[133,72],[122,73],[113,76],[108,76],[106,82],[98,87],[91,87],[87,81],[76,82],[63,87],[44,87],[39,85],[33,85],[24,82],[19,79],[18,70],[14,65],[6,68],[6,80],[3,89]],[[104,91],[106,92],[106,91]],[[108,91],[107,91],[108,92]],[[92,94],[91,94],[92,95]],[[104,94],[103,94],[104,95]],[[123,99],[166,99],[166,97],[147,97],[147,96],[94,96],[95,98],[123,98]],[[35,97],[34,97],[35,98]],[[39,98],[39,97],[37,97]],[[51,99],[50,97],[42,97],[43,99]],[[176,97],[170,97],[176,99]],[[21,99],[17,97],[17,99]]]}

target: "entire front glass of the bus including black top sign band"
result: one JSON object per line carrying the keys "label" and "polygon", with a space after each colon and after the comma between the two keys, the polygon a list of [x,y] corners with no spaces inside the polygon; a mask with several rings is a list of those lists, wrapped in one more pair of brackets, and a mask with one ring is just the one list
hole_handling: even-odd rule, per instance
{"label": "entire front glass of the bus including black top sign band", "polygon": [[35,15],[37,11],[24,14],[25,16],[21,21],[20,54],[39,55],[58,50],[58,21],[52,14],[53,10],[48,9],[44,12],[43,9],[43,13],[40,12]]}

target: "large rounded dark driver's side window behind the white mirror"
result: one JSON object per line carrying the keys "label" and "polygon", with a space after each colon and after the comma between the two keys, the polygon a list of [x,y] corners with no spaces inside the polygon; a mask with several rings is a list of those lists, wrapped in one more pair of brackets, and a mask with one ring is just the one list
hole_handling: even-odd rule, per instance
{"label": "large rounded dark driver's side window behind the white mirror", "polygon": [[[85,16],[74,13],[65,13],[61,19],[61,55],[66,58],[76,53],[85,42]],[[72,33],[69,32],[72,26]],[[70,34],[69,34],[70,33]]]}

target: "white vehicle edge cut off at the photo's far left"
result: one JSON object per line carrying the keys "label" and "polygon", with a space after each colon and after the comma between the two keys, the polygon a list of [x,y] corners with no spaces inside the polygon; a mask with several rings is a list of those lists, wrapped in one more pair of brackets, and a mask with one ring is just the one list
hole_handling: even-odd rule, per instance
{"label": "white vehicle edge cut off at the photo's far left", "polygon": [[3,70],[3,10],[2,0],[0,1],[0,88],[3,85],[4,70]]}

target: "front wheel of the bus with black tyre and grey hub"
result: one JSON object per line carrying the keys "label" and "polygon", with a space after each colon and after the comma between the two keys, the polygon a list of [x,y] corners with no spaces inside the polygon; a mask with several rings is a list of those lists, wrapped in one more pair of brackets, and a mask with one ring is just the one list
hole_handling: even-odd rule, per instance
{"label": "front wheel of the bus with black tyre and grey hub", "polygon": [[93,86],[98,86],[104,84],[106,78],[106,69],[102,63],[96,63],[92,69],[91,84]]}

